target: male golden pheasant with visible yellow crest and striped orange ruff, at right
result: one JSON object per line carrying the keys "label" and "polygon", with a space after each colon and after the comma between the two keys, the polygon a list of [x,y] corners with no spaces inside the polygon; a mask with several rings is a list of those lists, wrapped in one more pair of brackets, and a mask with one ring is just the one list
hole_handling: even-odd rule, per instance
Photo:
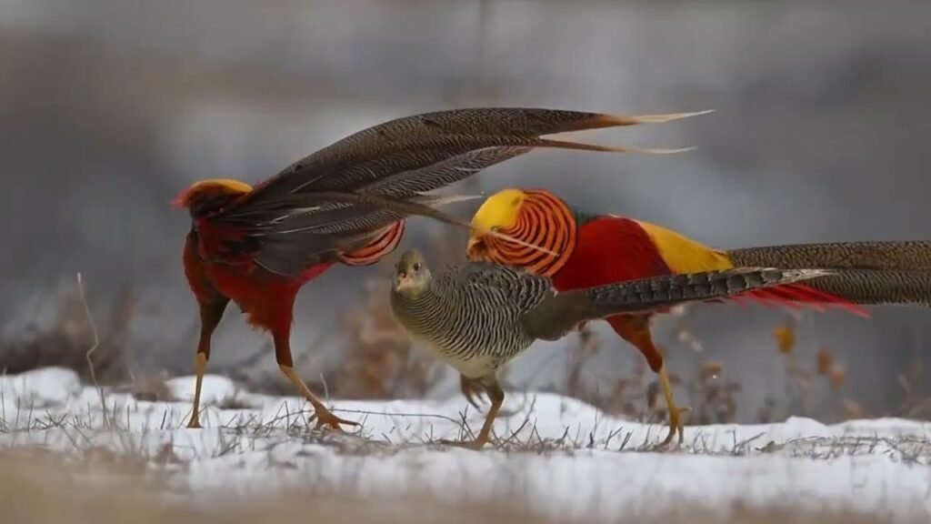
{"label": "male golden pheasant with visible yellow crest and striped orange ruff, at right", "polygon": [[[509,188],[486,199],[472,218],[466,253],[550,277],[556,289],[587,288],[623,280],[742,267],[838,269],[830,276],[749,291],[751,298],[789,307],[837,307],[867,315],[859,305],[931,306],[931,241],[832,242],[718,250],[655,224],[616,214],[580,211],[545,189]],[[504,233],[546,248],[492,237]],[[651,314],[605,319],[637,347],[658,374],[669,412],[668,445],[682,441],[666,365],[650,334]],[[463,382],[464,393],[469,394]]]}

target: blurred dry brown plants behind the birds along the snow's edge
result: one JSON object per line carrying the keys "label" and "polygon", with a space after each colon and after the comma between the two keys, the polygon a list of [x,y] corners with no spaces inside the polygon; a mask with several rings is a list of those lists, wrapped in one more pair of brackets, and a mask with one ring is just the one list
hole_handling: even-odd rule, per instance
{"label": "blurred dry brown plants behind the birds along the snow's edge", "polygon": [[[441,261],[458,258],[457,246],[462,244],[455,235],[435,230],[429,242],[431,257]],[[344,351],[340,362],[321,370],[311,365],[312,352],[296,355],[295,367],[312,388],[325,396],[344,399],[397,399],[422,398],[435,391],[444,373],[444,365],[418,351],[410,338],[399,328],[391,316],[388,305],[387,275],[390,264],[379,267],[379,275],[365,283],[365,292],[358,305],[344,314],[341,332]],[[33,329],[26,337],[16,341],[0,341],[0,368],[7,374],[17,374],[47,365],[60,365],[74,369],[88,382],[112,385],[117,392],[133,393],[141,400],[170,400],[165,380],[184,370],[149,370],[145,373],[128,365],[128,333],[135,311],[134,294],[130,288],[120,293],[109,308],[104,322],[97,324],[90,314],[81,285],[70,285],[61,294],[57,321],[45,330]],[[708,357],[702,343],[688,325],[688,308],[673,311],[675,336],[679,344],[675,352],[660,348],[672,367],[682,370],[671,374],[681,405],[691,407],[687,423],[709,424],[736,422],[737,407],[742,385],[736,374],[729,373],[726,362]],[[846,387],[847,370],[841,357],[830,348],[820,348],[815,355],[800,354],[796,341],[798,311],[789,311],[785,322],[776,326],[769,341],[772,351],[778,354],[785,369],[787,382],[779,395],[765,398],[761,406],[754,407],[752,420],[740,422],[772,422],[789,416],[813,416],[809,398],[813,388],[825,387],[833,395],[834,413],[830,421],[884,415],[911,419],[931,419],[931,397],[924,383],[923,361],[916,356],[897,379],[901,386],[901,404],[886,413],[870,413],[862,407],[856,395]],[[193,332],[193,331],[192,331]],[[606,343],[607,342],[607,343]],[[297,344],[296,344],[297,345]],[[314,344],[304,344],[313,347]],[[609,414],[623,415],[637,421],[661,422],[666,419],[665,403],[654,374],[642,359],[635,359],[627,373],[615,374],[612,383],[592,384],[587,375],[594,368],[593,361],[607,346],[624,345],[619,340],[604,340],[590,328],[584,327],[570,345],[562,360],[554,359],[551,365],[560,366],[562,378],[558,385],[547,388],[583,400]],[[88,354],[88,348],[93,351]],[[629,351],[634,352],[632,347]],[[211,363],[211,373],[225,374],[242,382],[256,393],[293,394],[290,383],[277,369],[260,365],[271,354],[269,344],[246,356],[234,365],[220,366]],[[686,364],[686,365],[682,365]],[[265,369],[256,373],[256,369]],[[250,371],[244,371],[250,370]],[[323,371],[321,373],[321,371]],[[325,379],[324,379],[325,377]],[[520,385],[514,386],[521,389]],[[249,407],[227,399],[223,407]],[[825,419],[823,416],[820,419]],[[828,421],[828,420],[826,420]]]}

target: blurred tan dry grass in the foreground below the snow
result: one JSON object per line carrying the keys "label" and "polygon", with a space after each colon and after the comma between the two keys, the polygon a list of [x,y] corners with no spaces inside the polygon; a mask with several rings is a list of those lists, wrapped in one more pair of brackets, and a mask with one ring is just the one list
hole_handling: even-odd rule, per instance
{"label": "blurred tan dry grass in the foreground below the snow", "polygon": [[[527,524],[587,523],[584,519],[556,519],[536,514],[527,501],[513,496],[474,503],[449,503],[428,494],[364,498],[310,489],[292,489],[275,495],[237,498],[220,504],[196,504],[193,493],[172,490],[162,476],[147,476],[139,464],[111,454],[88,453],[63,457],[36,448],[0,451],[0,507],[4,521],[29,524],[110,524],[133,522],[169,524],[277,524],[345,522],[347,524],[489,522]],[[760,508],[735,505],[730,515],[710,513],[683,504],[658,515],[629,516],[619,520],[639,524],[874,524],[889,521],[884,515],[851,512]],[[897,519],[904,524],[921,520]]]}

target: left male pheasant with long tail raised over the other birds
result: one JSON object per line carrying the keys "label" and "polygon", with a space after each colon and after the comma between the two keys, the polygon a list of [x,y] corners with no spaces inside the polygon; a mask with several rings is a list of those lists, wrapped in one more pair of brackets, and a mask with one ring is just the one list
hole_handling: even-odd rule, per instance
{"label": "left male pheasant with long tail raised over the other birds", "polygon": [[188,427],[200,427],[200,391],[210,338],[231,300],[251,325],[271,332],[277,364],[313,405],[317,425],[338,429],[341,423],[355,424],[334,416],[293,369],[292,309],[304,283],[334,264],[366,266],[388,255],[398,246],[409,214],[470,227],[432,207],[461,198],[425,192],[534,148],[680,151],[589,145],[542,135],[668,122],[698,114],[629,117],[519,107],[436,111],[358,131],[255,187],[228,179],[188,187],[174,200],[191,215],[183,265],[200,308],[194,408]]}

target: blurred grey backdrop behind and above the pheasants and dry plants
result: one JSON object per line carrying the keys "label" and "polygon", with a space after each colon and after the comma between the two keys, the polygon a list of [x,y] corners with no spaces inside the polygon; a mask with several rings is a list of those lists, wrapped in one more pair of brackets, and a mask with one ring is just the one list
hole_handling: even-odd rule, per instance
{"label": "blurred grey backdrop behind and above the pheasants and dry plants", "polygon": [[[717,110],[579,135],[694,152],[536,151],[468,189],[546,186],[722,248],[931,238],[929,21],[931,3],[892,0],[0,0],[3,337],[51,322],[80,271],[95,315],[132,283],[133,368],[192,372],[188,219],[169,200],[196,179],[254,183],[363,127],[455,106]],[[461,230],[411,222],[404,245],[438,229],[465,245]],[[391,261],[332,269],[304,288],[293,345],[313,341],[321,371],[339,358],[333,322]],[[264,343],[229,311],[211,365]],[[745,417],[784,387],[772,336],[784,317],[710,305],[687,317],[726,379],[743,384]],[[883,414],[900,399],[897,374],[929,354],[929,320],[918,309],[808,312],[797,356],[837,352],[849,396]],[[672,324],[657,323],[655,337],[673,371],[694,366]],[[641,358],[598,333],[616,351],[589,366],[594,379]],[[558,346],[521,357],[509,379],[549,385]],[[274,370],[272,352],[256,365]]]}

